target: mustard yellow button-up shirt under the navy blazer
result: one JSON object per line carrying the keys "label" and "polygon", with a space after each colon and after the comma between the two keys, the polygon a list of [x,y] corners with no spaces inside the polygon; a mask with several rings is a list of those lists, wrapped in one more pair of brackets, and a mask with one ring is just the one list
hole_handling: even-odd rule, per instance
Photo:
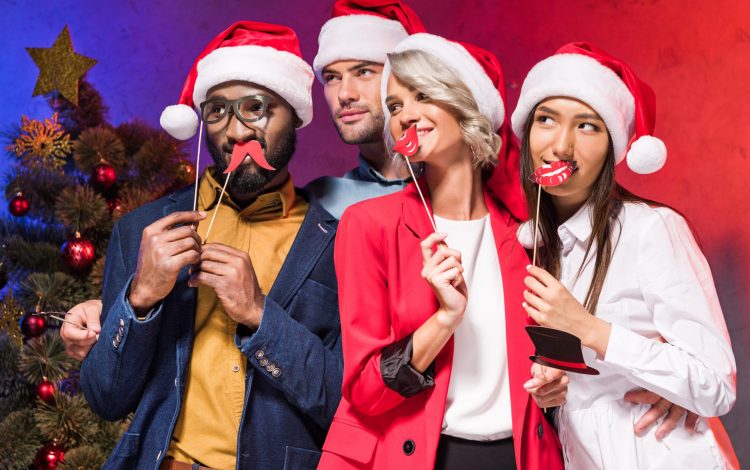
{"label": "mustard yellow button-up shirt under the navy blazer", "polygon": [[[198,208],[208,217],[198,224],[206,231],[221,185],[209,168],[200,182]],[[294,190],[291,177],[278,191],[261,194],[240,209],[224,194],[208,243],[222,243],[246,252],[264,295],[271,290],[308,203]],[[189,372],[172,442],[167,455],[215,469],[234,469],[237,433],[245,402],[247,359],[234,344],[237,323],[227,316],[213,289],[198,287],[195,339]]]}

